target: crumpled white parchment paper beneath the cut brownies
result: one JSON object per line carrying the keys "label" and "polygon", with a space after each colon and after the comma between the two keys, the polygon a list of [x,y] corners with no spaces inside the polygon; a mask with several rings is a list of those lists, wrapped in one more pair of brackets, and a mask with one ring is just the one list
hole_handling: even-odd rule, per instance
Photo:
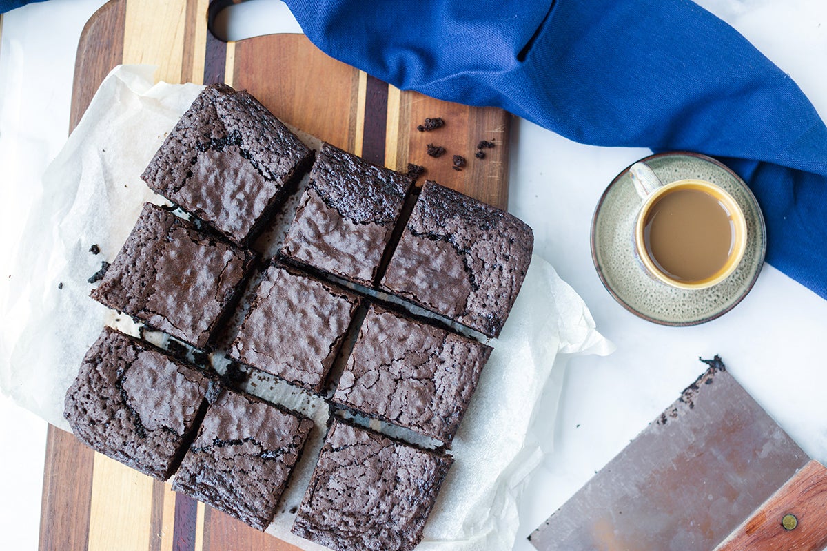
{"label": "crumpled white parchment paper beneath the cut brownies", "polygon": [[[139,175],[201,90],[153,84],[153,73],[151,67],[122,66],[98,89],[45,174],[12,277],[0,286],[0,389],[66,430],[65,391],[103,325],[136,329],[88,297],[87,278],[101,261],[114,259],[143,202],[164,202]],[[101,253],[90,253],[91,245]],[[500,339],[490,344],[494,353],[453,442],[455,463],[418,549],[512,548],[520,489],[551,441],[560,366],[571,354],[613,349],[581,298],[537,256]],[[323,549],[289,533],[289,510],[312,471],[326,408],[287,385],[248,390],[294,406],[319,425],[268,532],[304,549]]]}

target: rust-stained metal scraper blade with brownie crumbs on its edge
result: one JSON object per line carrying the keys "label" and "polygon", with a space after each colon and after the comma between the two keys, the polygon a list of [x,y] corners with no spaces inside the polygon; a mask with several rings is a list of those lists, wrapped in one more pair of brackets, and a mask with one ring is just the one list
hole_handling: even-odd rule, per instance
{"label": "rust-stained metal scraper blade with brownie crumbs on its edge", "polygon": [[710,551],[809,458],[710,368],[529,537],[540,551]]}

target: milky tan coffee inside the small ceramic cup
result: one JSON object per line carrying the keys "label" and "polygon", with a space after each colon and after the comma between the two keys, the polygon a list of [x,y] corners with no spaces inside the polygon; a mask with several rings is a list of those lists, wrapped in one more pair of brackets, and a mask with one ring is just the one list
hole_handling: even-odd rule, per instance
{"label": "milky tan coffee inside the small ceramic cup", "polygon": [[718,197],[678,188],[649,208],[643,240],[649,258],[664,275],[699,282],[726,266],[735,245],[735,222]]}

